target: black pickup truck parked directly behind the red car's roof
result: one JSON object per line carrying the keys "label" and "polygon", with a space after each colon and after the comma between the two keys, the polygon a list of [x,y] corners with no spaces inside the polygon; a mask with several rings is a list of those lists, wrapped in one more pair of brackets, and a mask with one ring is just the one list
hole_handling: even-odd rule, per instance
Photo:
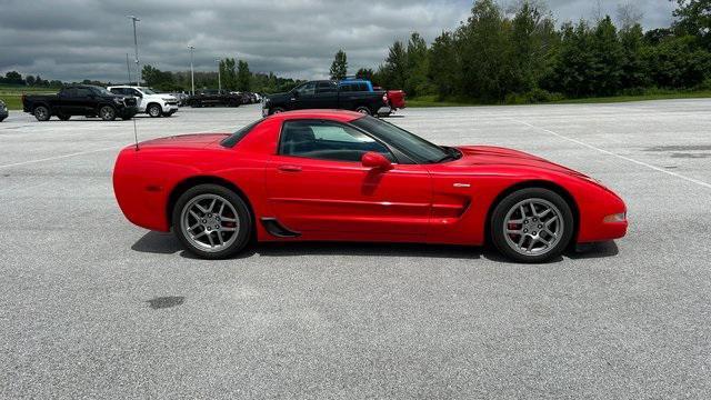
{"label": "black pickup truck parked directly behind the red car's roof", "polygon": [[370,116],[390,111],[384,91],[344,91],[330,80],[306,82],[290,92],[271,94],[262,102],[264,117],[303,109],[341,109]]}

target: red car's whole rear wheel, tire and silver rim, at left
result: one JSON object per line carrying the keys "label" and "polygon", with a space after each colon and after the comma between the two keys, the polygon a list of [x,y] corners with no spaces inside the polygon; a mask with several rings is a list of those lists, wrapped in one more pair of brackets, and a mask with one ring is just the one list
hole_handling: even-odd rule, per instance
{"label": "red car's whole rear wheel, tire and silver rim, at left", "polygon": [[244,201],[233,191],[218,184],[199,184],[176,202],[172,228],[188,251],[206,259],[223,259],[248,244],[252,219]]}

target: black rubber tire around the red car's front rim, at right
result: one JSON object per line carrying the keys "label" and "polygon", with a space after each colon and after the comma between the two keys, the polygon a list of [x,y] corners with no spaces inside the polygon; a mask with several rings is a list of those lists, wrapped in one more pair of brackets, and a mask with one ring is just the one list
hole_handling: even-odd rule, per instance
{"label": "black rubber tire around the red car's front rim, at right", "polygon": [[[525,253],[525,252],[530,252],[531,249],[529,249],[528,251],[517,250],[517,244],[521,247],[521,242],[513,243],[512,238],[522,238],[524,236],[528,236],[528,239],[523,239],[523,243],[527,243],[527,242],[532,243],[534,242],[533,238],[539,238],[539,237],[542,238],[543,231],[537,232],[534,229],[537,227],[540,229],[543,224],[548,227],[548,224],[543,222],[543,218],[538,219],[537,218],[538,216],[533,214],[532,212],[531,212],[531,217],[528,217],[528,218],[525,216],[522,217],[522,219],[525,220],[525,223],[531,223],[531,224],[539,223],[538,226],[533,226],[531,231],[528,231],[528,229],[523,230],[524,228],[523,223],[521,223],[521,227],[518,227],[518,224],[514,224],[515,228],[521,229],[520,230],[521,232],[528,231],[527,234],[513,233],[511,236],[511,233],[505,232],[507,228],[510,228],[504,222],[507,219],[507,214],[509,214],[510,212],[517,212],[514,211],[514,209],[519,209],[518,204],[520,204],[521,202],[531,201],[531,200],[552,204],[553,206],[553,208],[551,208],[552,212],[549,211],[548,213],[549,216],[547,218],[550,219],[552,218],[552,216],[559,214],[561,217],[559,220],[562,220],[560,226],[555,226],[555,228],[560,229],[562,233],[554,237],[548,236],[547,233],[545,239],[552,242],[553,244],[552,246],[545,244],[547,248],[544,250],[539,250],[540,252],[538,253],[533,253],[533,252]],[[507,196],[493,209],[493,212],[491,213],[490,222],[491,222],[490,233],[491,233],[491,240],[493,244],[503,256],[518,262],[531,262],[531,263],[545,262],[559,257],[565,250],[568,244],[570,244],[570,241],[573,238],[573,232],[575,230],[573,213],[570,204],[568,204],[568,202],[560,194],[555,193],[552,190],[543,189],[543,188],[521,189]],[[553,221],[553,223],[558,223],[558,222]],[[512,228],[512,229],[515,229],[515,228]],[[544,228],[544,229],[548,229],[548,228]],[[532,236],[537,233],[538,236]],[[509,240],[507,240],[507,238],[509,238]],[[541,246],[544,244],[541,241],[535,241],[534,243],[540,243]]]}

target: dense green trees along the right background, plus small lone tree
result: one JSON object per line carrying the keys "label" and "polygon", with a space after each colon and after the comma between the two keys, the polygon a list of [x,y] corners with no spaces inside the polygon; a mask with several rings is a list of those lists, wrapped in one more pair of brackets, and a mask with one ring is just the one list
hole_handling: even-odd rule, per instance
{"label": "dense green trees along the right background, plus small lone tree", "polygon": [[[673,0],[669,28],[644,31],[628,4],[609,16],[557,27],[539,1],[505,12],[477,0],[471,14],[428,46],[417,32],[395,41],[375,72],[388,89],[409,96],[479,102],[539,102],[562,98],[642,94],[653,89],[711,89],[711,0]],[[331,77],[341,78],[341,50]]]}

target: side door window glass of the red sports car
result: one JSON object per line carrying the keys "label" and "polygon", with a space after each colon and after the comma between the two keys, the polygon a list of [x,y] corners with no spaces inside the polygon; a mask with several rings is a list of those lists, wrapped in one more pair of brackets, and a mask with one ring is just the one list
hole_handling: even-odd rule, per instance
{"label": "side door window glass of the red sports car", "polygon": [[281,129],[279,153],[317,160],[360,162],[364,153],[381,153],[394,162],[390,150],[358,129],[319,120],[286,121]]}

